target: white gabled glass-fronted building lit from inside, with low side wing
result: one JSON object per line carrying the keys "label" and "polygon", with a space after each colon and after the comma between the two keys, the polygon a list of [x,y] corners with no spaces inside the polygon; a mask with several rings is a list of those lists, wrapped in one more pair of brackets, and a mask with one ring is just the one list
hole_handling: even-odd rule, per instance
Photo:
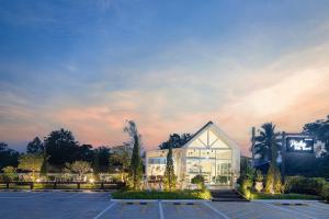
{"label": "white gabled glass-fronted building lit from inside, with low side wing", "polygon": [[[146,152],[148,181],[161,180],[168,150]],[[240,172],[240,148],[213,122],[196,131],[185,145],[173,149],[174,172],[182,187],[203,175],[206,185],[235,186]]]}

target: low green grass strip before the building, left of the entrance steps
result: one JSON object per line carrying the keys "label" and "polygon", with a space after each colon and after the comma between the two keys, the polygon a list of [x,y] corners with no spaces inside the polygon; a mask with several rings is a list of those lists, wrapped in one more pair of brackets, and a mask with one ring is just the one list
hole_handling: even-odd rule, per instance
{"label": "low green grass strip before the building, left of the entrance steps", "polygon": [[115,199],[211,199],[208,191],[117,191],[112,194]]}

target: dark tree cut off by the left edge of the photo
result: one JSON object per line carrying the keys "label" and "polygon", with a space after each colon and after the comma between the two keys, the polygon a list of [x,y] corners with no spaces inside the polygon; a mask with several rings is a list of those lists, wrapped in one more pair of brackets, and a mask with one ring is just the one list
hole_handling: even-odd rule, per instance
{"label": "dark tree cut off by the left edge of the photo", "polygon": [[0,142],[0,170],[8,165],[18,166],[20,153],[10,149],[5,142]]}

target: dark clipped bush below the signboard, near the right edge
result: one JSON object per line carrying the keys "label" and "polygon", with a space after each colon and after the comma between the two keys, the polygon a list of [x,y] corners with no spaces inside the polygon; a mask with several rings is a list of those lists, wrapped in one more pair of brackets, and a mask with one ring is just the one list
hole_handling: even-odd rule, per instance
{"label": "dark clipped bush below the signboard, near the right edge", "polygon": [[320,195],[326,184],[325,178],[288,176],[285,180],[285,193]]}

